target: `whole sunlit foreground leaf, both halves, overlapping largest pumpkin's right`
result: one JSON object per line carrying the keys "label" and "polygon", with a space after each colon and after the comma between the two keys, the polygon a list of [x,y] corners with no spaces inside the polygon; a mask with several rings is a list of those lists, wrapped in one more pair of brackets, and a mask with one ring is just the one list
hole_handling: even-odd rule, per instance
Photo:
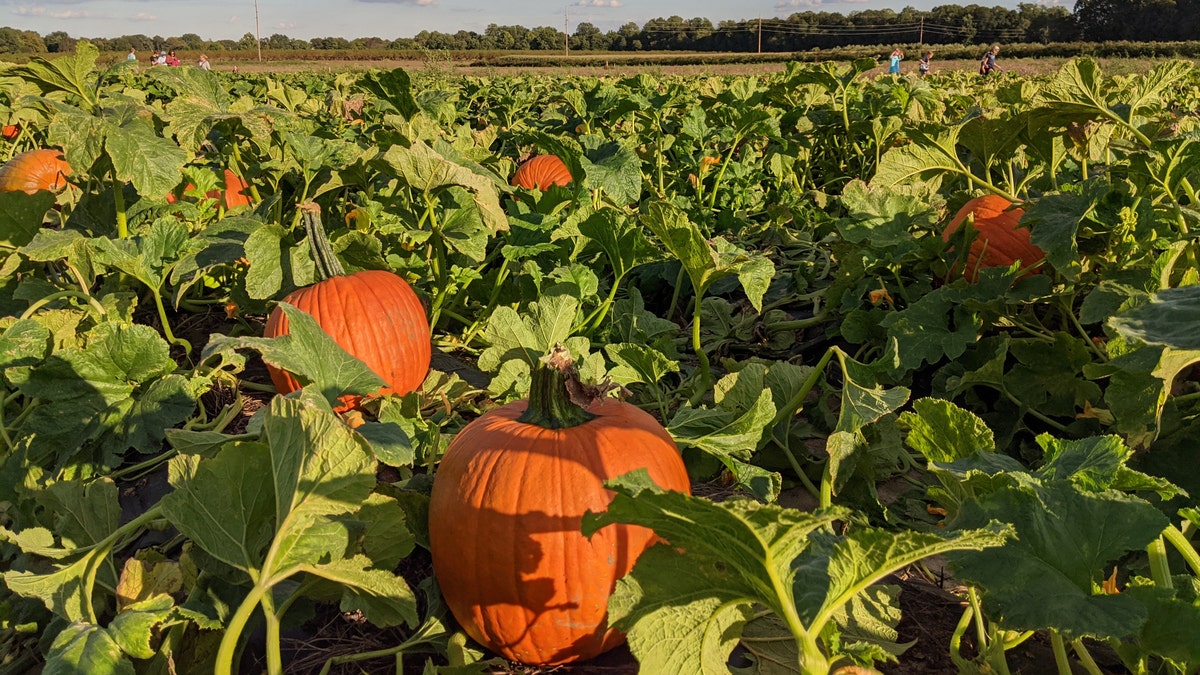
{"label": "whole sunlit foreground leaf, both halves, overlapping largest pumpkin's right", "polygon": [[[804,625],[790,622],[793,640],[833,640],[826,628],[835,616],[890,572],[926,555],[978,550],[1004,538],[998,530],[959,538],[875,530],[821,538],[816,531],[847,512],[713,503],[659,490],[644,471],[606,485],[617,496],[607,512],[583,518],[584,534],[630,522],[670,542],[642,554],[608,602],[612,625],[629,634],[646,673],[727,671],[728,653],[756,604],[779,617],[799,610]],[[815,540],[822,545],[811,546]]]}

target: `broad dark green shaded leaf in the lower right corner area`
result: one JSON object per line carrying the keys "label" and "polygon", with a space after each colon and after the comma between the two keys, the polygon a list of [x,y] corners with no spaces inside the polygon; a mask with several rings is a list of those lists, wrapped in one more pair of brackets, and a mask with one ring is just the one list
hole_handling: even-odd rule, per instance
{"label": "broad dark green shaded leaf in the lower right corner area", "polygon": [[[1120,492],[1084,492],[1073,483],[1008,486],[962,504],[955,527],[1012,522],[1016,538],[986,552],[948,557],[956,574],[984,589],[984,608],[1010,629],[1052,628],[1068,637],[1123,638],[1146,609],[1121,595],[1097,595],[1114,560],[1144,549],[1168,525],[1148,502]],[[1030,602],[1030,598],[1054,602]]]}

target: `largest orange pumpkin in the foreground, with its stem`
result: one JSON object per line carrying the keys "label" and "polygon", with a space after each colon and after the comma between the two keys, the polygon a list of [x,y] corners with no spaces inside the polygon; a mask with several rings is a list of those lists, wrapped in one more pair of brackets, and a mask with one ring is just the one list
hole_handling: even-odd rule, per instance
{"label": "largest orange pumpkin in the foreground, with its stem", "polygon": [[658,538],[635,525],[581,533],[583,514],[612,501],[602,482],[644,467],[659,486],[690,492],[662,425],[611,398],[572,404],[572,378],[557,348],[528,400],[455,436],[430,498],[433,573],[450,611],[480,644],[527,664],[592,658],[625,639],[608,627],[608,597]]}

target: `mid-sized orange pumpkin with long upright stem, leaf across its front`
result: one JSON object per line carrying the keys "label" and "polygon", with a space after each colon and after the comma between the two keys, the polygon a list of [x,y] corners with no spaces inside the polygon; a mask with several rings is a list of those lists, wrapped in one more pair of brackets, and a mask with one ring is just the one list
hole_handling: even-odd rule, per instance
{"label": "mid-sized orange pumpkin with long upright stem, leaf across its front", "polygon": [[[306,204],[302,221],[317,261],[322,281],[289,293],[284,303],[312,315],[322,330],[340,347],[365,363],[388,383],[373,395],[407,394],[425,382],[432,352],[430,322],[413,288],[385,270],[346,274],[334,255],[320,225],[316,204]],[[288,318],[280,307],[271,311],[264,335],[288,334]],[[300,388],[296,378],[270,364],[271,382],[281,394]],[[358,396],[343,396],[344,412],[359,404]]]}

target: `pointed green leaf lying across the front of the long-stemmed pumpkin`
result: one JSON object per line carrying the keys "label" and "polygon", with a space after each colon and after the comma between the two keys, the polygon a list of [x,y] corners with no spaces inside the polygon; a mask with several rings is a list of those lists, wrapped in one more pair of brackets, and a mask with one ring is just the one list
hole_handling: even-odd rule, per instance
{"label": "pointed green leaf lying across the front of the long-stemmed pumpkin", "polygon": [[314,386],[329,401],[346,394],[367,395],[385,383],[366,364],[350,356],[308,313],[280,303],[288,317],[288,334],[278,338],[214,336],[202,358],[232,350],[254,350],[263,360]]}

